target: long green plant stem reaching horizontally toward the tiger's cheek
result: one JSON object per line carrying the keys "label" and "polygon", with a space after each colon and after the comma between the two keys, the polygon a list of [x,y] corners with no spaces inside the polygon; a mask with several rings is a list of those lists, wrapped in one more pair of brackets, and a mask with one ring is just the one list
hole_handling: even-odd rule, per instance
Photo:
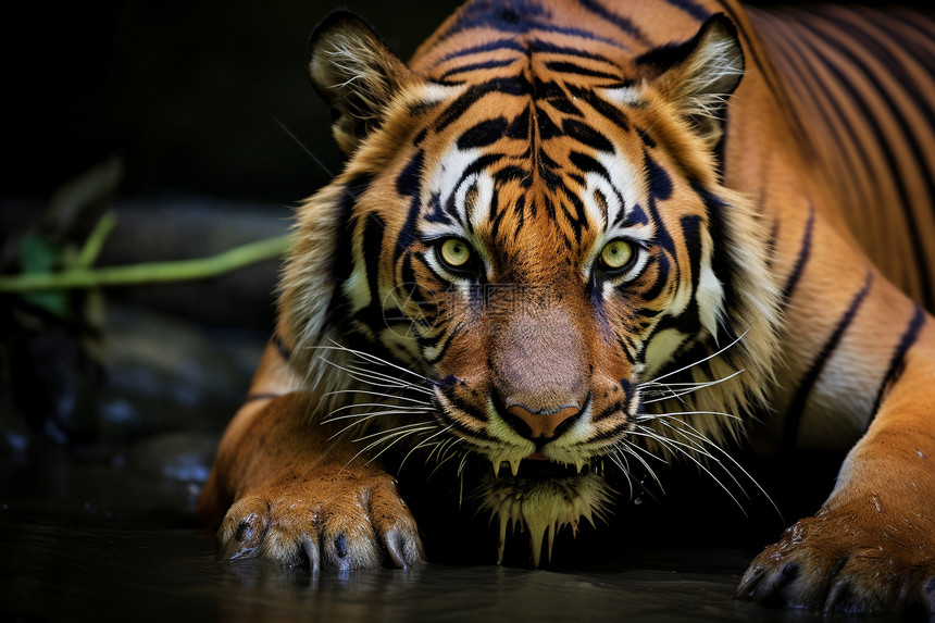
{"label": "long green plant stem reaching horizontally toward the tiger's cheek", "polygon": [[30,292],[203,279],[282,257],[290,236],[266,238],[210,258],[152,262],[103,269],[70,269],[58,273],[0,276],[0,292]]}

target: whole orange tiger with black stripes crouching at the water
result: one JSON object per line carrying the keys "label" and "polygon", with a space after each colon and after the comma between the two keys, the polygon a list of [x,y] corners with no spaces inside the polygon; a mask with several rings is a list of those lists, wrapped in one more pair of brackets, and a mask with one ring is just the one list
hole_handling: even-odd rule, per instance
{"label": "whole orange tiger with black stripes crouching at the water", "polygon": [[297,209],[198,501],[219,557],[423,563],[413,456],[481,465],[461,486],[498,562],[520,525],[539,566],[650,459],[820,448],[833,490],[737,598],[935,611],[933,33],[896,9],[470,0],[406,64],[331,13],[308,72],[347,160]]}

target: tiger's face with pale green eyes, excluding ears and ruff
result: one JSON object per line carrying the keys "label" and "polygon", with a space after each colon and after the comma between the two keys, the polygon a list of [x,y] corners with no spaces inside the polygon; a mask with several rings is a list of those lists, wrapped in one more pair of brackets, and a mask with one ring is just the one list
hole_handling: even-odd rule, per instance
{"label": "tiger's face with pale green eyes, excluding ears and ruff", "polygon": [[[706,205],[649,136],[584,101],[509,103],[411,157],[419,213],[386,341],[411,335],[391,347],[423,364],[442,423],[495,470],[581,466],[632,428],[641,383],[716,332],[723,287]],[[537,139],[546,123],[570,132]]]}

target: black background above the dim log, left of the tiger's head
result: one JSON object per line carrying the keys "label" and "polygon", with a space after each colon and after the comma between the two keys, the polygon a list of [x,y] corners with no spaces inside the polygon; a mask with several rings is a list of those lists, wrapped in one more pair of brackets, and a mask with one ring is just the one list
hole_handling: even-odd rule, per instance
{"label": "black background above the dim log, left of the tiger's head", "polygon": [[[0,41],[0,195],[46,197],[120,154],[126,196],[291,203],[329,176],[274,117],[338,170],[327,110],[304,68],[309,34],[336,3],[17,4],[3,18]],[[457,3],[346,5],[408,59]]]}

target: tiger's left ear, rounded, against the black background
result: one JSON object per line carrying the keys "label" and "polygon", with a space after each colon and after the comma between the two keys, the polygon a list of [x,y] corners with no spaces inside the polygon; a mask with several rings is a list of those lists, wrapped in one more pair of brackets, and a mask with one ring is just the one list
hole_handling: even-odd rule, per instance
{"label": "tiger's left ear, rounded, against the black background", "polygon": [[379,125],[409,75],[373,28],[350,11],[332,12],[312,33],[309,77],[331,107],[335,140],[348,155]]}

